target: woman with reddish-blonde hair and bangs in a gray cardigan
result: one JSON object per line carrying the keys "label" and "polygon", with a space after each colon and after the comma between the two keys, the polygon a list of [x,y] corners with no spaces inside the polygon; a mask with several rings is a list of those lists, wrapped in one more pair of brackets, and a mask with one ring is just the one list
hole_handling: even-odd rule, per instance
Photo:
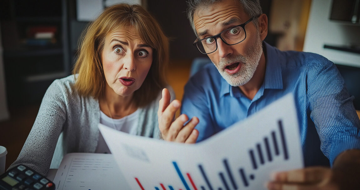
{"label": "woman with reddish-blonde hair and bangs in a gray cardigan", "polygon": [[42,175],[69,152],[109,152],[98,124],[158,138],[168,39],[139,5],[108,7],[83,34],[73,75],[46,91],[31,132],[10,168]]}

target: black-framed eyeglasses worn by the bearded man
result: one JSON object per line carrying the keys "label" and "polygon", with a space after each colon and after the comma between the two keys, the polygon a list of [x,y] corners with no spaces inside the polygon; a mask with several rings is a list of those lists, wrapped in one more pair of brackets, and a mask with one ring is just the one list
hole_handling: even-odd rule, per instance
{"label": "black-framed eyeglasses worn by the bearded man", "polygon": [[193,43],[199,51],[203,54],[213,53],[217,49],[217,38],[220,38],[225,44],[229,46],[238,44],[246,38],[245,25],[251,22],[255,17],[252,17],[248,21],[243,24],[239,24],[237,26],[226,29],[219,34],[204,38],[204,39],[196,39]]}

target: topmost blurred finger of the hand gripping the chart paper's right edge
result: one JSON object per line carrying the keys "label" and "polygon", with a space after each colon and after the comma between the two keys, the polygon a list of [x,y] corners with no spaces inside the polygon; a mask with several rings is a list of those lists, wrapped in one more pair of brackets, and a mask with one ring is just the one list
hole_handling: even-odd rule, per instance
{"label": "topmost blurred finger of the hand gripping the chart paper's right edge", "polygon": [[278,172],[273,179],[278,182],[314,183],[321,181],[325,173],[330,170],[326,167],[307,167],[298,170]]}

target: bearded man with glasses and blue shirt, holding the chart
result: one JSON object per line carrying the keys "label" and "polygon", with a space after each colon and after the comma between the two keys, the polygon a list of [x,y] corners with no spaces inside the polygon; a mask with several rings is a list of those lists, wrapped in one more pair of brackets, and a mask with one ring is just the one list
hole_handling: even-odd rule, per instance
{"label": "bearded man with glasses and blue shirt, holding the chart", "polygon": [[[267,16],[258,0],[192,0],[188,5],[194,45],[215,67],[206,66],[189,80],[182,114],[175,120],[181,104],[170,103],[163,90],[158,111],[163,138],[201,141],[292,93],[305,166],[310,167],[278,172],[267,187],[360,189],[360,121],[334,64],[317,54],[282,52],[262,42]],[[331,169],[311,161],[322,155],[320,149]]]}

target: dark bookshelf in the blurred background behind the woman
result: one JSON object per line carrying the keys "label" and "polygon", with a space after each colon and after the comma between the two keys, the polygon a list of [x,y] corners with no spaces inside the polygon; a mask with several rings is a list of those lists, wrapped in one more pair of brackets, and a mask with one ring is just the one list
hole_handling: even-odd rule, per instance
{"label": "dark bookshelf in the blurred background behind the woman", "polygon": [[67,0],[0,2],[9,106],[39,103],[52,81],[71,73]]}

